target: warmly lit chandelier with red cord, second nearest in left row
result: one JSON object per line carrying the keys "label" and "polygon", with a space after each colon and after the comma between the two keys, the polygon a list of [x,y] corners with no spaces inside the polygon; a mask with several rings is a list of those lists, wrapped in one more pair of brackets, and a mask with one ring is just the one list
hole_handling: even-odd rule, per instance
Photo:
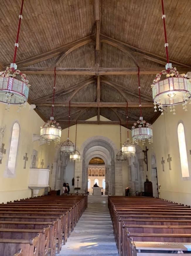
{"label": "warmly lit chandelier with red cord, second nearest in left row", "polygon": [[50,144],[51,141],[60,142],[61,127],[59,123],[54,120],[54,95],[56,84],[56,68],[54,68],[54,87],[53,87],[53,102],[52,102],[52,116],[42,127],[40,127],[40,139]]}

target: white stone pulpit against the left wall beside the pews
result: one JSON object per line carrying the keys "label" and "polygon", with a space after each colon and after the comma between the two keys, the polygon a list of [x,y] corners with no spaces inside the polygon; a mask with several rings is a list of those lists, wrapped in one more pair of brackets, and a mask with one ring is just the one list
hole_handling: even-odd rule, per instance
{"label": "white stone pulpit against the left wall beside the pews", "polygon": [[33,189],[33,197],[37,197],[40,189],[48,187],[50,169],[30,168],[28,187]]}

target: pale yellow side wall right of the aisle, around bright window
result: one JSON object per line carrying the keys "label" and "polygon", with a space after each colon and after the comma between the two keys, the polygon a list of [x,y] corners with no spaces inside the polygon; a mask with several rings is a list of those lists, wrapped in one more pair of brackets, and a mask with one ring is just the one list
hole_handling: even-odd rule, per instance
{"label": "pale yellow side wall right of the aisle, around bright window", "polygon": [[[151,156],[155,154],[158,172],[158,184],[161,185],[159,197],[173,202],[191,205],[191,180],[183,180],[181,174],[180,153],[178,146],[178,124],[182,122],[185,131],[188,167],[191,177],[191,105],[187,104],[188,111],[182,109],[182,105],[176,106],[176,115],[170,112],[160,116],[153,124],[153,143],[147,145],[148,151],[148,177],[151,180]],[[171,167],[167,162],[168,154],[172,157]],[[165,171],[163,172],[161,160],[165,159]]]}

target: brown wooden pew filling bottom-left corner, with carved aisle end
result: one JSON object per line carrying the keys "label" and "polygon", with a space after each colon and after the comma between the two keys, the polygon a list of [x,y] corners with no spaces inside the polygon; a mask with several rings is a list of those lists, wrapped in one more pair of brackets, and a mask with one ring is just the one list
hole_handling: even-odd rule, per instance
{"label": "brown wooden pew filling bottom-left corner, with carved aisle end", "polygon": [[[18,250],[22,250],[23,256],[38,256],[39,234],[30,240],[0,239],[0,252],[2,256],[12,256]],[[18,255],[19,254],[17,253],[16,256]]]}

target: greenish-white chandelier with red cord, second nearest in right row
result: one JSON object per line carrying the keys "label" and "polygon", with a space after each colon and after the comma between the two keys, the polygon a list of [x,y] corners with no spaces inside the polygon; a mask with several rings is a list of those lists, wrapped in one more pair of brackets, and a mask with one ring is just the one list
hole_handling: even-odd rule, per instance
{"label": "greenish-white chandelier with red cord, second nearest in right row", "polygon": [[138,84],[139,84],[139,107],[140,107],[140,117],[137,122],[134,122],[132,126],[132,139],[133,142],[139,143],[142,142],[144,145],[145,140],[148,139],[149,144],[153,142],[153,130],[151,124],[143,120],[142,109],[141,109],[141,86],[140,86],[140,77],[139,77],[139,67],[138,67]]}

